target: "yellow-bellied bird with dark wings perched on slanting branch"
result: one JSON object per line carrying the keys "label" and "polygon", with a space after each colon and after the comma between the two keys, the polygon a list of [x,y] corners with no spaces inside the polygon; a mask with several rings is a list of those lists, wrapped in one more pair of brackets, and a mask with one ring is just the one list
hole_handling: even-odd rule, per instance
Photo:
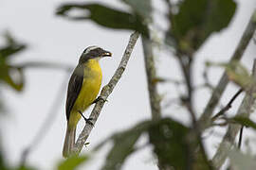
{"label": "yellow-bellied bird with dark wings perched on slanting branch", "polygon": [[65,102],[66,132],[64,138],[63,156],[67,158],[72,154],[75,144],[76,127],[83,117],[86,123],[91,124],[82,112],[97,101],[101,89],[101,66],[99,60],[111,57],[112,53],[99,46],[88,46],[82,52],[79,63],[74,69],[67,87]]}

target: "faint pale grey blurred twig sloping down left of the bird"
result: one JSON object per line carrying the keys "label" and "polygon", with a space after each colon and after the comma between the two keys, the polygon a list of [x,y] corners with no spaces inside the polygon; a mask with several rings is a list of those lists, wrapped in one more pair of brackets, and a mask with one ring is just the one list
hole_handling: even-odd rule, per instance
{"label": "faint pale grey blurred twig sloping down left of the bird", "polygon": [[43,125],[39,128],[38,132],[36,133],[35,137],[32,139],[31,143],[27,145],[27,147],[23,150],[21,154],[21,165],[25,165],[27,161],[28,155],[32,152],[32,150],[38,146],[44,137],[46,136],[47,131],[52,126],[56,116],[58,115],[58,110],[63,102],[62,98],[64,98],[64,89],[66,87],[66,79],[68,79],[69,74],[64,76],[64,82],[59,88],[59,91],[56,95],[54,102],[52,103],[50,110],[47,113],[46,120],[44,121]]}

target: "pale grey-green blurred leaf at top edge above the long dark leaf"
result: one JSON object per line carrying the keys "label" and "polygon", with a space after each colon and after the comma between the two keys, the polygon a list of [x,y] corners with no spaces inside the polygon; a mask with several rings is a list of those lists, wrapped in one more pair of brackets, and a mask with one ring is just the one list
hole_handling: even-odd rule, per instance
{"label": "pale grey-green blurred leaf at top edge above the long dark leaf", "polygon": [[[151,21],[152,1],[151,0],[121,0],[129,5],[143,19]],[[143,8],[143,10],[142,10]]]}

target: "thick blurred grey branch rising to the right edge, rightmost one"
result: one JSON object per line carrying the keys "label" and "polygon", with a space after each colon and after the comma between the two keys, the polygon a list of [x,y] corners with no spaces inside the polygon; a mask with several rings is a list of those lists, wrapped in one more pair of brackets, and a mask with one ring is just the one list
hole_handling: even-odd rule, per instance
{"label": "thick blurred grey branch rising to the right edge, rightmost one", "polygon": [[[255,13],[256,14],[256,13]],[[255,93],[256,93],[256,59],[254,59],[253,63],[253,69],[252,69],[252,78],[253,78],[253,83],[250,85],[249,90],[240,105],[236,116],[245,116],[249,117],[251,113],[251,109],[253,107],[253,104],[255,102]],[[226,161],[228,152],[235,140],[235,137],[241,128],[240,125],[235,125],[235,124],[230,124],[228,127],[228,131],[226,132],[221,144],[219,145],[212,162],[215,166],[216,169],[219,169],[222,164]]]}

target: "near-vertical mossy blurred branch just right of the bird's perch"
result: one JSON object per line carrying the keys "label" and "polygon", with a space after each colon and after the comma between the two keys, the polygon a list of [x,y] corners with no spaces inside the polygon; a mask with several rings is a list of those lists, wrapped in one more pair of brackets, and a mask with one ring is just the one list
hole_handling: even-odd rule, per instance
{"label": "near-vertical mossy blurred branch just right of the bird's perch", "polygon": [[155,76],[155,59],[153,55],[153,46],[152,42],[145,37],[142,37],[142,45],[144,51],[144,61],[148,81],[148,91],[150,95],[150,106],[152,119],[160,119],[161,117],[161,108],[160,108],[160,97],[157,93],[156,88],[156,76]]}

